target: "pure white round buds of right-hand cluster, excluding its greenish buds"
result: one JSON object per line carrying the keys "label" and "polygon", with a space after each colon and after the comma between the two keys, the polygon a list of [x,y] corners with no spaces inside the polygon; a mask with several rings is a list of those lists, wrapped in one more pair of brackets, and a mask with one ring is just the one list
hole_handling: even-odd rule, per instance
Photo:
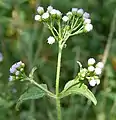
{"label": "pure white round buds of right-hand cluster, excluding its greenish buds", "polygon": [[88,59],[88,71],[90,76],[86,77],[89,81],[90,86],[95,86],[100,84],[99,75],[102,73],[102,69],[104,64],[102,62],[98,62],[95,65],[95,59],[90,58]]}

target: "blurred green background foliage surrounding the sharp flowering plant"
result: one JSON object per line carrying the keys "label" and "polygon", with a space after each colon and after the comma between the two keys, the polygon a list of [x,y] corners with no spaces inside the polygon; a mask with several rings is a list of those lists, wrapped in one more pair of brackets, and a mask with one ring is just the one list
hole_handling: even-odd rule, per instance
{"label": "blurred green background foliage surrounding the sharp flowering plant", "polygon": [[90,57],[107,59],[101,84],[90,87],[98,104],[78,95],[64,98],[63,120],[116,120],[116,0],[0,0],[0,52],[4,57],[0,62],[0,120],[56,120],[55,101],[46,97],[26,101],[16,111],[16,101],[28,85],[8,82],[10,66],[22,60],[27,73],[38,67],[38,83],[55,89],[57,46],[47,44],[51,33],[34,20],[39,5],[52,5],[63,13],[72,7],[83,8],[91,14],[93,31],[71,37],[63,51],[61,89],[77,74],[77,60],[87,66]]}

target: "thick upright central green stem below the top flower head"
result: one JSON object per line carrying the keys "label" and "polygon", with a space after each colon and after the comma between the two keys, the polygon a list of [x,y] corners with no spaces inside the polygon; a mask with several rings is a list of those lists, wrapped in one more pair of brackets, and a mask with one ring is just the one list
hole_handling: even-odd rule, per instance
{"label": "thick upright central green stem below the top flower head", "polygon": [[57,73],[56,73],[56,110],[57,110],[58,120],[61,120],[61,106],[60,106],[60,98],[59,98],[59,82],[60,82],[59,78],[60,78],[62,48],[63,48],[63,46],[59,42]]}

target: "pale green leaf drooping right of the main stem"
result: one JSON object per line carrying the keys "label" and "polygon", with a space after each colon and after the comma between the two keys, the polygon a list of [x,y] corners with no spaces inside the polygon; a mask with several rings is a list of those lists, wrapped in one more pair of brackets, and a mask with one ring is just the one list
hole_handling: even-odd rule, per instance
{"label": "pale green leaf drooping right of the main stem", "polygon": [[60,93],[60,97],[63,98],[71,94],[83,95],[89,100],[91,100],[94,105],[97,104],[97,100],[94,94],[88,89],[88,87],[84,83],[81,83],[78,80],[69,81],[65,85],[64,90]]}

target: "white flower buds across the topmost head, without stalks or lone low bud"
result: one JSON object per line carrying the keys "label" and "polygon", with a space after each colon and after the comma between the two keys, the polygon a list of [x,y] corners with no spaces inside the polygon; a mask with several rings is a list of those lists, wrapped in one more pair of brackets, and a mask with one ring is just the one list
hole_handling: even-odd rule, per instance
{"label": "white flower buds across the topmost head, without stalks or lone low bud", "polygon": [[[93,26],[91,24],[90,14],[84,12],[83,9],[72,8],[72,11],[69,11],[67,12],[66,15],[62,16],[62,13],[59,10],[54,9],[52,6],[48,6],[46,12],[43,7],[39,6],[37,8],[37,12],[38,14],[35,15],[36,21],[52,22],[53,19],[56,18],[56,21],[60,19],[61,22],[63,22],[63,24],[68,22],[68,24],[71,25],[72,22],[74,21],[76,22],[76,20],[78,19],[80,22],[82,22],[81,26],[83,26],[84,31],[89,32],[93,29]],[[78,24],[79,22],[77,22],[77,26]]]}

